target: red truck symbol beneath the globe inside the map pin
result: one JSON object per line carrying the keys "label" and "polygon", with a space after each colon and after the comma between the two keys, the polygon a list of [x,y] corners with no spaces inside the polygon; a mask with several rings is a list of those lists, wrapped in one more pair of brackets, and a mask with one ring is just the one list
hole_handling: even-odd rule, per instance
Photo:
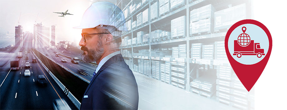
{"label": "red truck symbol beneath the globe inside the map pin", "polygon": [[254,40],[250,41],[250,44],[243,47],[238,44],[237,40],[234,40],[234,53],[236,57],[240,58],[242,55],[256,55],[258,58],[265,55],[264,49],[260,48],[260,43],[254,43]]}

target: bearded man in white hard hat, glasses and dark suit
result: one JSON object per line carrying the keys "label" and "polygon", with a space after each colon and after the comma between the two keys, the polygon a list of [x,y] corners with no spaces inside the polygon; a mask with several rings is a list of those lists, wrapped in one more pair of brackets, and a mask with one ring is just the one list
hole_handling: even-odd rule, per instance
{"label": "bearded man in white hard hat, glasses and dark suit", "polygon": [[82,29],[82,60],[98,64],[80,109],[138,109],[138,86],[119,52],[126,30],[122,11],[110,2],[92,3],[74,28]]}

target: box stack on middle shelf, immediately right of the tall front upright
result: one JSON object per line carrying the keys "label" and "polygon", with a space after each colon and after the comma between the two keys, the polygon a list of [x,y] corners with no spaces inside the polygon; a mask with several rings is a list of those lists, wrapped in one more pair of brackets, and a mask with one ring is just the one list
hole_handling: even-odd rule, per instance
{"label": "box stack on middle shelf, immediately right of the tall front upright", "polygon": [[202,43],[191,44],[191,58],[201,59],[202,58]]}

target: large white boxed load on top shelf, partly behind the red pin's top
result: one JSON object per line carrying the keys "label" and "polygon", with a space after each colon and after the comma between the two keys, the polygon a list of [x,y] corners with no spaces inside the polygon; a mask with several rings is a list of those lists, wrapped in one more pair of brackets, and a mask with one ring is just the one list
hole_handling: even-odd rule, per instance
{"label": "large white boxed load on top shelf, partly behind the red pin's top", "polygon": [[214,12],[214,30],[229,29],[234,23],[246,19],[245,3]]}

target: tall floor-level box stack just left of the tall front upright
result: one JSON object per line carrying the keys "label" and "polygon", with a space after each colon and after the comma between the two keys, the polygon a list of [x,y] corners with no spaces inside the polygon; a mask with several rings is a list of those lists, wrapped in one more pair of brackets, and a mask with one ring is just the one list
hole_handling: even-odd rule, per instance
{"label": "tall floor-level box stack just left of the tall front upright", "polygon": [[[180,64],[179,64],[180,63]],[[172,85],[185,89],[186,84],[186,64],[182,62],[171,63]],[[182,66],[183,65],[183,66]]]}

